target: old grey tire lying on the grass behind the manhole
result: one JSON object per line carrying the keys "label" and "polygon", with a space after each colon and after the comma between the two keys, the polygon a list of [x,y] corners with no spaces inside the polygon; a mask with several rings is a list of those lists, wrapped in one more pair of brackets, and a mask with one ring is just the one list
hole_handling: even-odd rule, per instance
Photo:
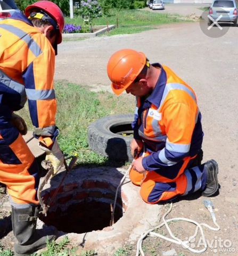
{"label": "old grey tire lying on the grass behind the manhole", "polygon": [[88,127],[88,145],[96,153],[113,161],[132,161],[130,142],[133,136],[134,115],[115,115],[100,118]]}

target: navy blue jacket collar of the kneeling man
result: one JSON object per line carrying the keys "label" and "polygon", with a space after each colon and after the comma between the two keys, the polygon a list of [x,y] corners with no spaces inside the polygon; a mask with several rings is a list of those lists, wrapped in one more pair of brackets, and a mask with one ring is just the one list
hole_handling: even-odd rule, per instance
{"label": "navy blue jacket collar of the kneeling man", "polygon": [[161,73],[160,73],[158,82],[154,87],[153,92],[145,101],[149,101],[150,103],[152,103],[153,105],[159,108],[163,91],[165,90],[165,86],[167,83],[167,75],[166,75],[166,71],[162,68],[160,63],[153,63],[152,66],[161,68]]}

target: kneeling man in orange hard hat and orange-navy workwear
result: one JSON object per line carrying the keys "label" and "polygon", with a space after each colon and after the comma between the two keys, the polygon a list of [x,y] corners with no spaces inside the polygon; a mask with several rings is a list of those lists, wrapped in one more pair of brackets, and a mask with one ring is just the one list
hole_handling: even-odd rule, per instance
{"label": "kneeling man in orange hard hat and orange-navy workwear", "polygon": [[198,190],[214,195],[218,165],[214,160],[201,164],[201,113],[192,88],[170,68],[131,49],[112,54],[108,76],[114,93],[136,97],[130,148],[137,158],[129,176],[141,186],[143,200],[156,204]]}

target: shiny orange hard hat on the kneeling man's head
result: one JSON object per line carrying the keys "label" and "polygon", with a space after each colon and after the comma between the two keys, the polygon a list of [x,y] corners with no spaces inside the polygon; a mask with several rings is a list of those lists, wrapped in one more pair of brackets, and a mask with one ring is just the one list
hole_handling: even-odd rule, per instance
{"label": "shiny orange hard hat on the kneeling man's head", "polygon": [[120,95],[141,73],[147,63],[143,52],[123,49],[111,55],[108,61],[108,77],[111,80],[112,91]]}

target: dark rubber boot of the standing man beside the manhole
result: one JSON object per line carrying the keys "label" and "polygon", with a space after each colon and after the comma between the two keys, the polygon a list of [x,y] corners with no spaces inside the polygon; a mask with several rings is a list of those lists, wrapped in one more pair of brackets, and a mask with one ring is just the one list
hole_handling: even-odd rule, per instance
{"label": "dark rubber boot of the standing man beside the manhole", "polygon": [[37,206],[23,209],[12,206],[12,230],[17,240],[14,244],[15,256],[30,255],[56,238],[55,230],[50,230],[47,235],[44,229],[36,230],[37,217]]}

